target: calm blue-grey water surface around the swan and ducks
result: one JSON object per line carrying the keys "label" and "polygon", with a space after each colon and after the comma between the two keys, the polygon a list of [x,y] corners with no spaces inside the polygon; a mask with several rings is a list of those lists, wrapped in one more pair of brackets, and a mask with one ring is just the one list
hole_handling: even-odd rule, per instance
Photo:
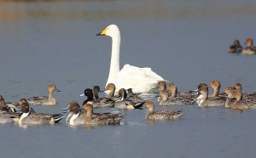
{"label": "calm blue-grey water surface around the swan and ducks", "polygon": [[[35,106],[61,113],[80,104],[84,88],[104,87],[110,37],[96,37],[110,24],[121,32],[120,67],[148,66],[179,91],[212,80],[224,87],[241,82],[256,91],[255,58],[227,54],[235,39],[256,41],[255,0],[29,1],[0,3],[0,94],[7,101],[46,95],[55,84],[59,104]],[[245,45],[243,45],[245,46]],[[212,89],[210,89],[212,93]],[[101,95],[105,95],[101,93]],[[125,114],[120,126],[1,125],[3,157],[255,157],[256,110],[239,112],[197,105],[159,106],[180,110],[179,121],[148,122],[148,110],[96,109]]]}

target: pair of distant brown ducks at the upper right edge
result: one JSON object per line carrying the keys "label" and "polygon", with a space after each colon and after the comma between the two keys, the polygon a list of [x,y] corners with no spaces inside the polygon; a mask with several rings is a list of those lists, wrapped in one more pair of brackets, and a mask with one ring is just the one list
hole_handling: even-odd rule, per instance
{"label": "pair of distant brown ducks at the upper right edge", "polygon": [[253,39],[247,38],[247,41],[245,42],[247,44],[247,47],[242,48],[240,45],[240,42],[238,40],[235,40],[233,42],[233,45],[230,46],[228,49],[228,53],[241,53],[245,55],[253,55],[256,54],[256,47],[253,46]]}

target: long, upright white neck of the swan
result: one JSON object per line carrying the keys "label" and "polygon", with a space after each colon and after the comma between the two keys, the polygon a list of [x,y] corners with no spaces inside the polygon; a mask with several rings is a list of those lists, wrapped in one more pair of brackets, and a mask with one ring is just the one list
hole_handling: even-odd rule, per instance
{"label": "long, upright white neck of the swan", "polygon": [[119,48],[120,48],[120,32],[117,30],[112,36],[112,53],[110,61],[110,69],[108,74],[108,83],[114,83],[115,75],[119,72]]}

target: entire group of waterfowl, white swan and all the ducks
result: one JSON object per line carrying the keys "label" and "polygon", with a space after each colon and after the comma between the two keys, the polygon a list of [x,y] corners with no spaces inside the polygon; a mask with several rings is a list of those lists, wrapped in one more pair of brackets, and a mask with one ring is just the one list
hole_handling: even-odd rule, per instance
{"label": "entire group of waterfowl, white swan and all the ducks", "polygon": [[[256,93],[241,93],[240,83],[236,83],[234,88],[226,87],[224,93],[219,93],[221,85],[218,81],[212,81],[209,86],[206,83],[200,83],[196,90],[180,93],[175,84],[166,87],[167,81],[151,71],[150,68],[125,65],[119,71],[119,28],[117,25],[108,25],[104,31],[97,34],[97,36],[102,35],[112,37],[111,64],[105,88],[105,91],[108,91],[107,97],[99,97],[98,93],[102,91],[98,86],[92,89],[86,88],[81,94],[81,96],[87,97],[83,102],[83,107],[81,108],[78,102],[71,101],[67,104],[67,108],[63,109],[63,112],[69,111],[69,114],[63,116],[61,114],[36,113],[29,105],[58,104],[53,97],[53,92],[60,92],[60,90],[55,85],[51,84],[47,87],[48,96],[20,99],[20,103],[5,102],[3,96],[0,95],[0,123],[18,122],[20,125],[44,125],[55,124],[67,117],[66,122],[70,125],[108,125],[119,124],[125,117],[109,112],[97,113],[94,108],[143,110],[145,106],[148,108],[148,114],[145,117],[148,120],[175,120],[185,115],[182,110],[154,111],[153,102],[139,97],[140,93],[150,93],[155,91],[156,87],[160,89],[157,96],[160,105],[199,104],[200,107],[224,106],[235,110],[256,109]],[[243,54],[255,54],[256,49],[253,47],[252,39],[247,39],[247,48],[242,49],[238,45],[240,43],[236,40],[229,52],[241,51]],[[211,95],[208,94],[208,87],[214,88],[214,93]],[[118,94],[115,95],[115,93]]]}

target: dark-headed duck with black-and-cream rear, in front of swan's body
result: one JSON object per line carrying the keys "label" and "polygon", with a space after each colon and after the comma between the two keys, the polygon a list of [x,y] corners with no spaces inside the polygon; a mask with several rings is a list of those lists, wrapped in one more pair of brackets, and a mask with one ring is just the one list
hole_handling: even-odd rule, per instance
{"label": "dark-headed duck with black-and-cream rear, in front of swan's body", "polygon": [[119,89],[119,96],[121,99],[115,104],[116,109],[141,109],[145,100],[127,99],[127,93],[124,88]]}

